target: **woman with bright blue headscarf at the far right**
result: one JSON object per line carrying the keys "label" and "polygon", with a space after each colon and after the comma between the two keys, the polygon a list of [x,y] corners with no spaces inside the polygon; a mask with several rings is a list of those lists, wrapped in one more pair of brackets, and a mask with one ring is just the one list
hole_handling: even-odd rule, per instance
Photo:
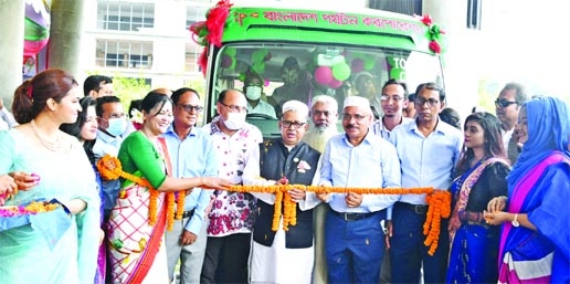
{"label": "woman with bright blue headscarf at the far right", "polygon": [[499,283],[570,282],[569,119],[568,105],[555,97],[520,109],[516,130],[524,146],[507,178],[508,198],[490,200],[485,214],[489,224],[504,224]]}

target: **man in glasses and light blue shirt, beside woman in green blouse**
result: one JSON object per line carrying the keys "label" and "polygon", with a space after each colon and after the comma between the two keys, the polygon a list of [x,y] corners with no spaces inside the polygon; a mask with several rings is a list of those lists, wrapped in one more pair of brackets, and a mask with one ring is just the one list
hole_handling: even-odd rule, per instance
{"label": "man in glasses and light blue shirt, beside woman in green blouse", "polygon": [[[203,107],[196,90],[182,87],[172,93],[175,119],[163,134],[168,155],[172,161],[172,175],[177,178],[218,177],[219,156],[212,137],[196,123]],[[194,188],[186,196],[182,220],[175,220],[166,233],[168,271],[170,281],[180,261],[180,283],[199,283],[207,243],[207,208],[212,190]],[[178,283],[178,282],[177,282]]]}

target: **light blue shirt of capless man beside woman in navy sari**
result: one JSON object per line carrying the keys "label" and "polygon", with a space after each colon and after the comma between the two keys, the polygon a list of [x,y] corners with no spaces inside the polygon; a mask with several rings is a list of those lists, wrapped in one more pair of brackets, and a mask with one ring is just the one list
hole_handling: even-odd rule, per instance
{"label": "light blue shirt of capless man beside woman in navy sari", "polygon": [[[412,120],[392,129],[390,141],[400,157],[402,188],[450,189],[463,147],[461,130],[437,123],[435,129],[424,137]],[[403,194],[399,201],[425,204],[425,194]]]}

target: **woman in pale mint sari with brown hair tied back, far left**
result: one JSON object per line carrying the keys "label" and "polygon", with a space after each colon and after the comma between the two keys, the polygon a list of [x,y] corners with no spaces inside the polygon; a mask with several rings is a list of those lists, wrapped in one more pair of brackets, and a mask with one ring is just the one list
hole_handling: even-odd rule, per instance
{"label": "woman in pale mint sari with brown hair tied back, far left", "polygon": [[[77,82],[63,70],[43,71],[14,92],[12,108],[20,126],[0,133],[0,172],[34,172],[40,179],[7,204],[56,199],[71,214],[57,209],[0,231],[2,283],[95,280],[101,218],[95,175],[80,141],[59,129],[77,119],[80,96]],[[29,177],[14,179],[22,178]]]}

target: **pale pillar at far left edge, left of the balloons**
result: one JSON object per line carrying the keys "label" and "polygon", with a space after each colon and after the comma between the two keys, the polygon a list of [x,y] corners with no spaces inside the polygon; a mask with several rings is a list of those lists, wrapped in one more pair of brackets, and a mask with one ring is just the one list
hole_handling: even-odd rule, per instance
{"label": "pale pillar at far left edge, left of the balloons", "polygon": [[22,83],[24,11],[24,1],[0,0],[0,27],[4,27],[0,41],[0,98],[9,109],[13,92]]}

